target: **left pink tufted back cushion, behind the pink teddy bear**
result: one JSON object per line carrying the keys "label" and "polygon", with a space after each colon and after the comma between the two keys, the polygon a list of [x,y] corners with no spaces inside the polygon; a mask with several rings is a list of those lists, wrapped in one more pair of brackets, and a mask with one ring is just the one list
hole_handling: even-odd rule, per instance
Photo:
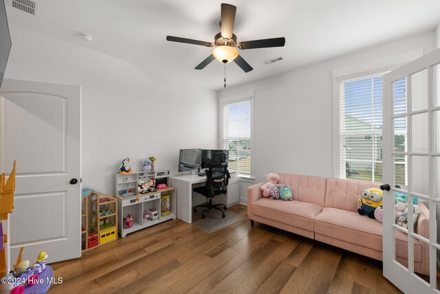
{"label": "left pink tufted back cushion, behind the pink teddy bear", "polygon": [[278,184],[289,185],[294,200],[324,206],[327,178],[290,174],[279,174],[279,176]]}

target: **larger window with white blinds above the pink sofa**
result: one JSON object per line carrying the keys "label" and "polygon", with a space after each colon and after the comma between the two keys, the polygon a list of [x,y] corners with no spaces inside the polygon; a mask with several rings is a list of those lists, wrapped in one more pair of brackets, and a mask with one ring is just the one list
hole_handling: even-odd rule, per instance
{"label": "larger window with white blinds above the pink sofa", "polygon": [[340,177],[382,182],[382,75],[340,82]]}

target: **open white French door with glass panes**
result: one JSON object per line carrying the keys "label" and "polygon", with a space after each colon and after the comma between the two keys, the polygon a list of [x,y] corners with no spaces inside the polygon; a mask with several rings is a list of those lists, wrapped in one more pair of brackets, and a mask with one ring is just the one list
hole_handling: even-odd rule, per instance
{"label": "open white French door with glass panes", "polygon": [[[404,293],[440,293],[440,49],[385,74],[383,89],[384,276]],[[395,223],[399,192],[409,207],[415,197],[428,207],[421,206],[428,230],[412,225],[416,208],[408,209],[408,228]],[[429,264],[419,266],[426,255]]]}

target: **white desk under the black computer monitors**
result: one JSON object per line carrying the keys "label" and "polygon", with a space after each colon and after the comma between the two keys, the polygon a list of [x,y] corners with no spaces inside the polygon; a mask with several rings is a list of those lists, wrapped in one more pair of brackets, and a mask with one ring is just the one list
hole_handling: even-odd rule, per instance
{"label": "white desk under the black computer monitors", "polygon": [[[177,189],[177,218],[192,222],[192,188],[198,187],[206,182],[206,176],[184,175],[170,177],[170,186]],[[215,196],[214,202],[230,206],[239,202],[239,175],[231,174],[228,183],[228,193],[225,196]],[[200,212],[201,213],[201,212]]]}

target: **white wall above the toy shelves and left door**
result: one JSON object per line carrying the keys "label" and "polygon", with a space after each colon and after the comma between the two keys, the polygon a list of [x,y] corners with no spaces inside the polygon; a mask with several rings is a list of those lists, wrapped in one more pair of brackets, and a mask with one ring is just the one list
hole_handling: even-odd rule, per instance
{"label": "white wall above the toy shelves and left door", "polygon": [[113,193],[127,156],[134,171],[156,156],[156,169],[177,174],[179,149],[217,147],[217,92],[17,25],[10,30],[5,78],[83,88],[83,187]]}

